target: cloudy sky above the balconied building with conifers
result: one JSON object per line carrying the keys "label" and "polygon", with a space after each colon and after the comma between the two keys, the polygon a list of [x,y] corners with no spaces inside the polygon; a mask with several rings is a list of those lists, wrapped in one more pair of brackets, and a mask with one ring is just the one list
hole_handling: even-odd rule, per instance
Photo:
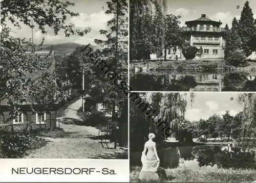
{"label": "cloudy sky above the balconied building with conifers", "polygon": [[[222,27],[227,23],[230,28],[232,19],[240,18],[245,2],[246,0],[167,0],[167,13],[181,15],[181,25],[184,25],[185,21],[194,20],[201,14],[206,14],[211,20],[221,20]],[[256,18],[255,0],[249,0],[249,6]]]}

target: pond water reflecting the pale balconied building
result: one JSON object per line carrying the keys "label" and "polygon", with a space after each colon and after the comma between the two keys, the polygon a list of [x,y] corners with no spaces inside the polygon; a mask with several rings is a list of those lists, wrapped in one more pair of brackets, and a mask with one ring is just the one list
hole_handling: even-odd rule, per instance
{"label": "pond water reflecting the pale balconied building", "polygon": [[256,91],[256,73],[147,71],[130,75],[133,91]]}

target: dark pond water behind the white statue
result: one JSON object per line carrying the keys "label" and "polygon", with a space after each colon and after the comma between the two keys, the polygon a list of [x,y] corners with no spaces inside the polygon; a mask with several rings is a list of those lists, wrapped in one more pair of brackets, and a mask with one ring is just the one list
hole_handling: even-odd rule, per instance
{"label": "dark pond water behind the white statue", "polygon": [[[217,145],[170,147],[159,152],[160,166],[163,168],[185,166],[193,169],[204,166],[256,169],[254,151],[244,151],[239,147],[232,147],[231,150]],[[140,156],[138,159],[135,154],[131,153],[130,161],[131,166],[141,166]]]}

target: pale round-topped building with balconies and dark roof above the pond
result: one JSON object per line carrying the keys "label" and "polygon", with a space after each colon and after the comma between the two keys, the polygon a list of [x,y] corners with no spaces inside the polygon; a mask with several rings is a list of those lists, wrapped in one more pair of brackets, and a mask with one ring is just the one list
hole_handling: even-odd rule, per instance
{"label": "pale round-topped building with balconies and dark roof above the pond", "polygon": [[[198,54],[200,53],[200,47],[203,48],[203,54],[197,59],[224,59],[225,54],[225,39],[224,34],[228,30],[220,28],[222,22],[211,20],[205,14],[195,20],[189,20],[185,22],[186,27],[183,27],[185,40],[190,46],[196,46],[198,48]],[[176,48],[167,50],[167,58],[173,57],[174,54],[179,59],[184,58],[182,50]]]}

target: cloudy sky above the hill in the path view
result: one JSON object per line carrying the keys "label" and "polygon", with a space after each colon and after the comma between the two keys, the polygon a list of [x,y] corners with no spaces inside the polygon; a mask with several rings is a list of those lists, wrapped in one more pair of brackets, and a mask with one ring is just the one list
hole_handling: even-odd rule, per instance
{"label": "cloudy sky above the hill in the path view", "polygon": [[[59,44],[65,42],[74,42],[79,44],[88,44],[91,43],[95,45],[94,39],[105,39],[104,35],[99,34],[100,29],[108,30],[106,21],[113,18],[113,15],[106,15],[105,11],[107,10],[106,2],[108,0],[70,0],[75,3],[75,6],[70,7],[70,10],[80,13],[78,17],[68,17],[67,23],[72,22],[77,28],[86,28],[90,27],[92,30],[90,33],[84,35],[83,37],[79,36],[70,36],[65,37],[63,33],[55,36],[53,32],[48,29],[48,35],[42,35],[40,31],[35,28],[33,30],[33,39],[35,43],[40,43],[42,37],[45,37],[45,44]],[[22,38],[31,38],[31,29],[26,25],[22,24],[22,29],[18,30],[12,26],[12,35],[15,37]]]}

